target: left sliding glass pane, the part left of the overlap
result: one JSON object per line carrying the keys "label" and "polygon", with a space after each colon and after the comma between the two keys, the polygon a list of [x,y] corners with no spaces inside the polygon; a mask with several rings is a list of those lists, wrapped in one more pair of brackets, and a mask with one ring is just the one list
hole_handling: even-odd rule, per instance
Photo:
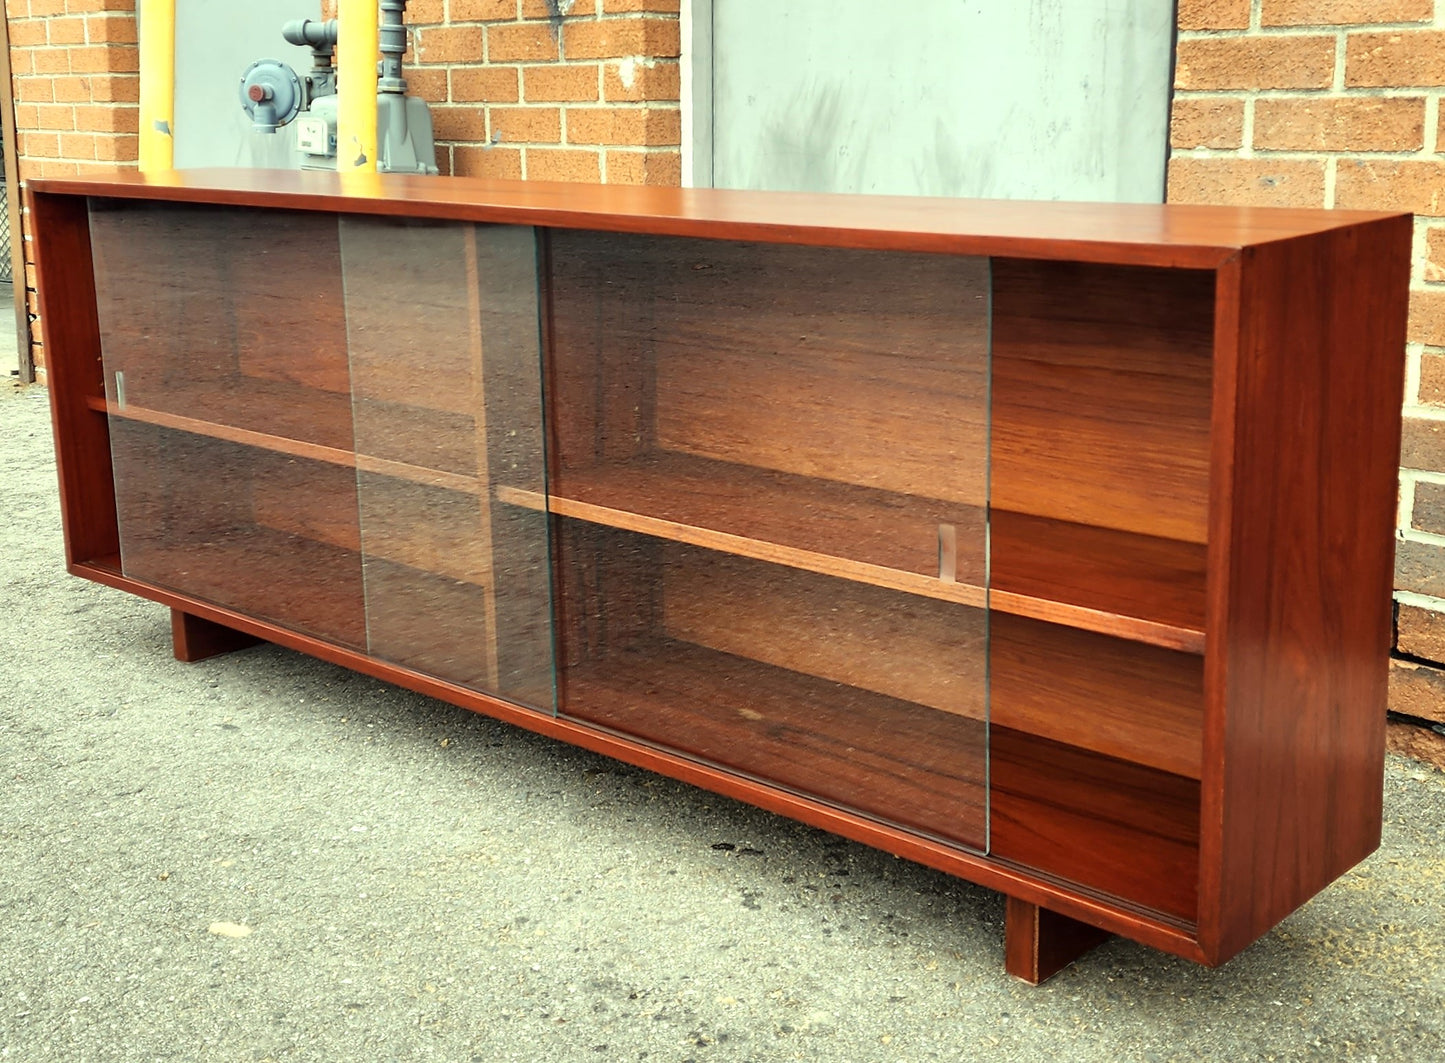
{"label": "left sliding glass pane, the part left of the overlap", "polygon": [[364,647],[335,218],[91,201],[129,576]]}

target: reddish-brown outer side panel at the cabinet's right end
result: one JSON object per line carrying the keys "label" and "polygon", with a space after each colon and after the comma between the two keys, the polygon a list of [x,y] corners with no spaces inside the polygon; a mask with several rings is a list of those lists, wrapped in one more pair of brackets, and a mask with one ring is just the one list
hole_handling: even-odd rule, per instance
{"label": "reddish-brown outer side panel at the cabinet's right end", "polygon": [[1207,620],[1217,960],[1380,841],[1410,231],[1389,218],[1240,263]]}

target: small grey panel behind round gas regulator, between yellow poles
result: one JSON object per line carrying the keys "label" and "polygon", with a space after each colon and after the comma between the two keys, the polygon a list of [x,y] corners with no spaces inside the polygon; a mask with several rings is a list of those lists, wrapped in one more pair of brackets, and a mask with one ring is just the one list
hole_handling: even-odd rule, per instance
{"label": "small grey panel behind round gas regulator, between yellow poles", "polygon": [[282,40],[289,19],[319,19],[321,0],[176,1],[175,165],[301,165],[295,129],[257,134],[237,95],[241,75],[256,59],[280,59],[296,74],[311,69],[311,49]]}

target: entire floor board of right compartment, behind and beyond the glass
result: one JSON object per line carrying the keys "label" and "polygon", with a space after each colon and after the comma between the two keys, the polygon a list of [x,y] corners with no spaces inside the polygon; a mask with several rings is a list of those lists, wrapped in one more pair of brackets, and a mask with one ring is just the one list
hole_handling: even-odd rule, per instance
{"label": "entire floor board of right compartment, behind and beyond the glass", "polygon": [[[1129,890],[1195,919],[1199,784],[669,638],[562,672],[562,712],[900,826]],[[985,757],[984,744],[988,744]],[[1056,823],[1065,816],[1069,829]],[[1129,855],[1123,859],[1121,854]],[[1139,893],[1137,885],[1133,893]]]}

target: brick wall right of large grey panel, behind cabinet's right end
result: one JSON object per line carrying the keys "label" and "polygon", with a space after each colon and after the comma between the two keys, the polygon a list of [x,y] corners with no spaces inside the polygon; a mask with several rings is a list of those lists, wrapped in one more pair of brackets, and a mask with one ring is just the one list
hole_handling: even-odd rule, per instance
{"label": "brick wall right of large grey panel, behind cabinet's right end", "polygon": [[1413,211],[1390,705],[1445,724],[1445,0],[1181,0],[1169,199]]}

